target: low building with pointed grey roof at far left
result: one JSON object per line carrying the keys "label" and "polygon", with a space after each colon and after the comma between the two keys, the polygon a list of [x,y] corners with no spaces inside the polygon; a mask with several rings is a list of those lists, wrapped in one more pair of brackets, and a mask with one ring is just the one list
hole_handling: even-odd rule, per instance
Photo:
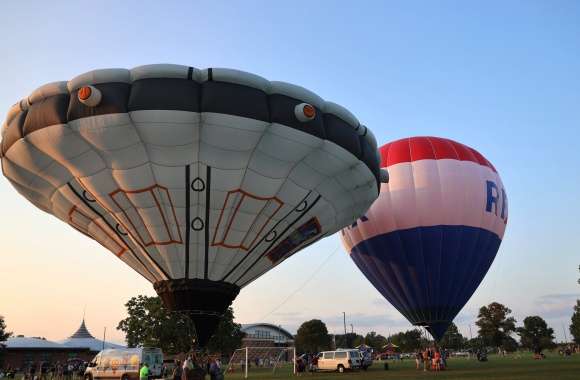
{"label": "low building with pointed grey roof at far left", "polygon": [[[53,342],[39,337],[16,336],[2,342],[3,365],[25,369],[42,363],[65,363],[71,359],[90,361],[103,349],[103,341],[91,335],[83,319],[78,330],[61,342]],[[123,347],[114,343],[104,344],[105,348]]]}

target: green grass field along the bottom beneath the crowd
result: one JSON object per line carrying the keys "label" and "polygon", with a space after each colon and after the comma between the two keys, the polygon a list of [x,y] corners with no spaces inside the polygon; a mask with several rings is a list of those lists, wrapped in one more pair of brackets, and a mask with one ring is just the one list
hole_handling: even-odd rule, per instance
{"label": "green grass field along the bottom beneath the crowd", "polygon": [[[340,373],[303,373],[302,378],[312,378],[316,380],[330,379],[548,379],[566,380],[580,379],[580,355],[572,357],[560,357],[548,355],[545,360],[533,360],[531,354],[522,355],[521,358],[490,356],[489,361],[480,363],[474,359],[451,359],[449,368],[441,372],[423,372],[415,369],[413,360],[401,362],[389,361],[389,370],[385,371],[382,362],[375,362],[368,371],[356,371]],[[275,375],[271,370],[250,369],[249,379],[287,379],[290,377],[291,369],[284,368],[277,371]],[[226,379],[242,379],[242,374],[230,373]]]}

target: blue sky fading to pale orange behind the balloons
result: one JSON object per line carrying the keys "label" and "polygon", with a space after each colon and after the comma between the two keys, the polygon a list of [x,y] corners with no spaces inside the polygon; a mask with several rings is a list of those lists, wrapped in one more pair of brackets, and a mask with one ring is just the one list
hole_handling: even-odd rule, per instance
{"label": "blue sky fading to pale orange behind the balloons", "polygon": [[[121,4],[122,3],[122,4]],[[38,86],[149,63],[228,67],[342,104],[380,144],[451,138],[498,169],[504,241],[456,318],[482,305],[544,317],[564,339],[580,297],[580,3],[561,1],[1,2],[0,119]],[[79,326],[123,341],[124,304],[152,286],[98,243],[36,209],[0,176],[0,315],[10,331],[59,340]],[[237,322],[291,332],[411,328],[331,236],[233,304]],[[349,326],[350,329],[350,326]]]}

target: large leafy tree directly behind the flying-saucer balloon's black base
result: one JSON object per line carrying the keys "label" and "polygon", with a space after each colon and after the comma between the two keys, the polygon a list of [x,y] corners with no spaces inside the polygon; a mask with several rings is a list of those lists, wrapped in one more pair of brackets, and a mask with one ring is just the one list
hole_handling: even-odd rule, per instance
{"label": "large leafy tree directly behind the flying-saucer balloon's black base", "polygon": [[[195,327],[182,313],[170,312],[159,297],[132,297],[126,304],[127,318],[119,322],[129,347],[159,347],[168,354],[188,352],[195,346]],[[233,310],[224,314],[208,343],[214,352],[230,354],[241,345],[241,326],[233,322]]]}

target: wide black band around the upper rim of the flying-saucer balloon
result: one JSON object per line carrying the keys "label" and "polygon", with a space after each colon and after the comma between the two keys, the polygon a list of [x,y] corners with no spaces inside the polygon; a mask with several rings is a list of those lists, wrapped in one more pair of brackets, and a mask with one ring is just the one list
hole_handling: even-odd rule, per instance
{"label": "wide black band around the upper rim of the flying-saucer balloon", "polygon": [[[15,120],[10,125],[18,128],[17,135],[23,138],[32,131],[53,125],[48,119],[54,118],[47,119],[44,117],[47,114],[55,115],[60,124],[80,118],[137,110],[181,110],[241,116],[283,124],[287,128],[328,140],[346,149],[367,165],[380,187],[379,162],[374,153],[370,154],[367,138],[358,135],[356,128],[361,128],[359,124],[349,124],[340,116],[320,109],[317,109],[314,120],[304,123],[292,112],[304,100],[282,94],[266,94],[253,86],[216,81],[212,68],[207,69],[207,80],[202,83],[193,78],[193,68],[188,67],[186,75],[187,79],[144,78],[133,84],[99,83],[95,86],[103,93],[107,104],[98,109],[84,106],[76,96],[71,96],[70,99],[68,94],[49,96],[35,107],[23,111],[18,116],[20,121]],[[164,96],[158,96],[159,91],[163,91]],[[3,152],[6,153],[19,138],[10,141],[5,139]]]}

